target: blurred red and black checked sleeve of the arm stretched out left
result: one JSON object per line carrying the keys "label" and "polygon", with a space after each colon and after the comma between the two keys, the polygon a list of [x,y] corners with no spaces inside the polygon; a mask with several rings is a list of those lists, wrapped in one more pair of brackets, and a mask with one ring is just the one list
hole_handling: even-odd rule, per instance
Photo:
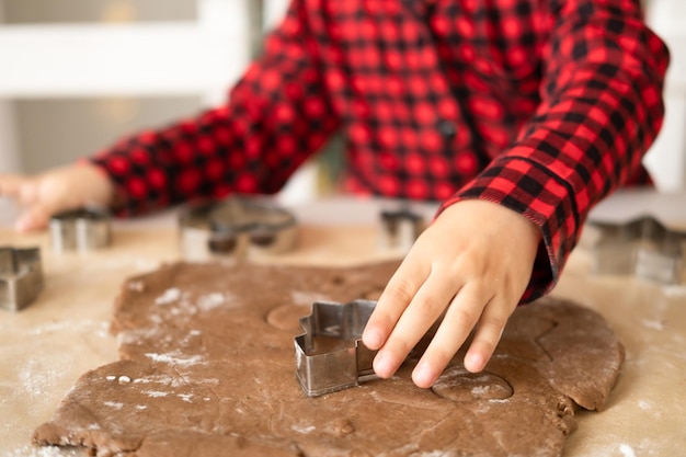
{"label": "blurred red and black checked sleeve of the arm stretched out left", "polygon": [[224,106],[125,138],[91,159],[115,183],[119,215],[277,192],[324,144],[339,119],[304,14],[293,2]]}

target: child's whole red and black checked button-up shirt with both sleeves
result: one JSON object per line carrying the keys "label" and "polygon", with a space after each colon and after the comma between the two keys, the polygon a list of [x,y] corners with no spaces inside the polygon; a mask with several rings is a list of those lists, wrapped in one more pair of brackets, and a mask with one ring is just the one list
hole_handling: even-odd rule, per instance
{"label": "child's whole red and black checked button-up shirt with both sleeves", "polygon": [[351,192],[484,198],[539,225],[533,299],[592,205],[647,181],[667,61],[639,0],[294,0],[225,106],[93,161],[138,214],[277,192],[342,130]]}

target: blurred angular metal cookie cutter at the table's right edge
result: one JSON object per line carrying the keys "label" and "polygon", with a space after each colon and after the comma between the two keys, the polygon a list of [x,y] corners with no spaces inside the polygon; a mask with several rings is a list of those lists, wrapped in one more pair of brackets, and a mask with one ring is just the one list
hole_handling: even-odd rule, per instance
{"label": "blurred angular metal cookie cutter at the table's right edge", "polygon": [[594,222],[592,271],[599,274],[634,274],[663,284],[683,282],[686,231],[670,230],[643,216],[626,224]]}

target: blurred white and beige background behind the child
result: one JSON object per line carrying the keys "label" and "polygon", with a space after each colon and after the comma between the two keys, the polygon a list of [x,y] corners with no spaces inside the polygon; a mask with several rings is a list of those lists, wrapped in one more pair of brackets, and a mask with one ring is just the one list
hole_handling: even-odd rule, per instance
{"label": "blurred white and beige background behind the child", "polygon": [[[0,172],[36,173],[220,103],[289,0],[0,0]],[[672,50],[645,164],[686,187],[686,1],[647,0]],[[325,193],[338,141],[284,192]]]}

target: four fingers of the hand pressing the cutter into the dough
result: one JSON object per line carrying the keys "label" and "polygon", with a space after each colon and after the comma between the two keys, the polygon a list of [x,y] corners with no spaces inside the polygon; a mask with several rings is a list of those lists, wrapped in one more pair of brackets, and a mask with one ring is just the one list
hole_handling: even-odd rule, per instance
{"label": "four fingers of the hand pressing the cutter into the dough", "polygon": [[[450,277],[453,279],[448,281]],[[480,279],[467,281],[462,285],[455,277],[445,271],[424,272],[419,276],[410,266],[399,269],[363,335],[365,345],[379,350],[374,359],[374,370],[379,377],[391,377],[444,313],[438,330],[412,373],[414,384],[421,388],[433,386],[475,328],[465,367],[472,373],[485,367],[518,296],[511,296]],[[424,282],[420,284],[421,278]],[[459,289],[455,292],[455,287]]]}

